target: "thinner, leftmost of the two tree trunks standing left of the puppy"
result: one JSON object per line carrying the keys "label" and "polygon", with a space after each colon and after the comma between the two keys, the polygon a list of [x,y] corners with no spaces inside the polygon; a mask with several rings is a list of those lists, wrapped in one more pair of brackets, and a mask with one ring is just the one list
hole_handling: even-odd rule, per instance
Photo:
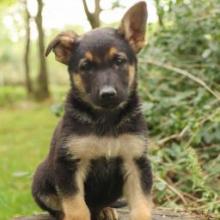
{"label": "thinner, leftmost of the two tree trunks standing left of the puppy", "polygon": [[33,87],[30,77],[30,13],[27,8],[27,0],[24,2],[25,6],[25,51],[24,51],[24,72],[25,72],[25,87],[28,95],[33,93]]}

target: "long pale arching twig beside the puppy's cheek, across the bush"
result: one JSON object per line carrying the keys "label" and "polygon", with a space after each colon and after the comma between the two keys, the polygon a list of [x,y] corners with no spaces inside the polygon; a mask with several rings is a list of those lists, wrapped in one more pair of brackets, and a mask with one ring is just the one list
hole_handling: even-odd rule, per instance
{"label": "long pale arching twig beside the puppy's cheek, across the bush", "polygon": [[198,83],[199,85],[201,85],[203,88],[205,88],[209,93],[211,93],[216,99],[218,99],[218,101],[220,101],[220,95],[217,94],[215,91],[213,91],[204,81],[202,81],[201,79],[199,79],[198,77],[192,75],[191,73],[189,73],[186,70],[174,67],[170,64],[165,64],[165,63],[160,63],[154,60],[147,60],[147,61],[143,61],[144,63],[150,64],[150,65],[154,65],[154,66],[158,66],[167,70],[171,70],[173,72],[176,72],[180,75],[183,75],[191,80],[193,80],[194,82]]}

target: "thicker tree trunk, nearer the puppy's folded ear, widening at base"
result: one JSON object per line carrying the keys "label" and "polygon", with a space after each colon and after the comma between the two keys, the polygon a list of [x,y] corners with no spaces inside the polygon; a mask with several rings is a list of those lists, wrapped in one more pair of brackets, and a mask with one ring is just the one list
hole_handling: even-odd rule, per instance
{"label": "thicker tree trunk, nearer the puppy's folded ear, widening at base", "polygon": [[35,17],[35,22],[38,31],[38,51],[39,51],[39,74],[37,77],[37,90],[36,97],[40,100],[44,100],[50,96],[49,86],[48,86],[48,73],[46,59],[44,56],[45,46],[44,46],[44,30],[42,24],[42,11],[43,11],[43,1],[37,0],[38,12]]}

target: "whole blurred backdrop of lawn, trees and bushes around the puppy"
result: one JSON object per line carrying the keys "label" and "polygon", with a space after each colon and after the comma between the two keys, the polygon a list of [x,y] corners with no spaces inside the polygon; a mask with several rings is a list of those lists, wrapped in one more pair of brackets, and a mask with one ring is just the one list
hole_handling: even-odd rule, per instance
{"label": "whole blurred backdrop of lawn, trees and bushes around the puppy", "polygon": [[[0,219],[40,210],[30,193],[69,88],[45,47],[60,31],[117,27],[135,0],[0,1]],[[220,216],[220,2],[147,0],[139,91],[156,206]]]}

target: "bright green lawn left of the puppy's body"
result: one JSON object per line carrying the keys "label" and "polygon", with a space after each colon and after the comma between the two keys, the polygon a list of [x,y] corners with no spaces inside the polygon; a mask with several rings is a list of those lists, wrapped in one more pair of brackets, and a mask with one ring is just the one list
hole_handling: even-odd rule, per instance
{"label": "bright green lawn left of the puppy's body", "polygon": [[57,120],[48,104],[0,110],[0,219],[39,211],[31,179],[48,152]]}

